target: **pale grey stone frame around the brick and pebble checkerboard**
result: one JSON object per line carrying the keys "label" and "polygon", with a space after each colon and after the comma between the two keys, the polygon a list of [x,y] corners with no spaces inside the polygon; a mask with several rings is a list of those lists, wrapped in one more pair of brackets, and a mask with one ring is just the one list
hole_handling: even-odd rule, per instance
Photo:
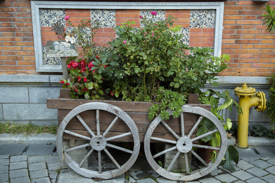
{"label": "pale grey stone frame around the brick and pebble checkerboard", "polygon": [[140,9],[140,10],[196,10],[214,9],[215,35],[214,35],[214,55],[218,56],[222,52],[222,34],[224,19],[224,2],[58,2],[58,1],[31,1],[35,63],[37,72],[62,72],[61,65],[43,65],[41,25],[39,17],[40,8],[50,9]]}

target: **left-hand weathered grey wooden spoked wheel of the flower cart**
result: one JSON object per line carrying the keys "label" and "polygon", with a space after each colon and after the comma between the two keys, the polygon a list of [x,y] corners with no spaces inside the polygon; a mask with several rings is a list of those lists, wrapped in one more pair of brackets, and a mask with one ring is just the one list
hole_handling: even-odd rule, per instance
{"label": "left-hand weathered grey wooden spoked wheel of the flower cart", "polygon": [[[80,113],[87,111],[87,110],[96,110],[96,127],[90,128],[84,119],[81,118]],[[103,132],[100,131],[100,118],[99,113],[100,112],[107,111],[109,113],[113,113],[116,115],[116,117],[113,119],[112,123],[107,127],[107,129]],[[70,120],[73,117],[77,117],[77,119],[80,121],[81,125],[85,127],[85,129],[89,132],[89,136],[84,136],[77,134],[75,132],[66,130],[66,126],[70,123]],[[129,132],[127,133],[120,133],[119,135],[115,135],[112,137],[106,137],[108,136],[108,132],[111,130],[111,128],[116,124],[116,121],[118,118],[121,118],[123,122],[128,126]],[[112,119],[111,119],[112,120]],[[92,131],[94,130],[94,132]],[[80,139],[88,140],[88,143],[79,145],[76,147],[65,149],[63,145],[63,134],[69,134],[74,137],[78,137]],[[114,139],[119,139],[122,137],[126,137],[132,135],[133,138],[133,150],[126,149],[124,147],[120,147],[114,144],[109,143],[109,141]],[[76,149],[80,149],[83,147],[90,147],[91,150],[89,153],[85,156],[85,158],[80,162],[77,163],[69,154],[69,151],[73,151]],[[127,154],[130,154],[130,158],[126,163],[123,165],[119,165],[119,163],[115,160],[115,158],[111,155],[111,153],[108,151],[107,148],[115,148],[116,150],[119,150],[121,152],[125,152]],[[112,170],[102,171],[101,168],[101,153],[102,150],[106,153],[106,155],[113,161],[116,167]],[[125,171],[127,171],[135,162],[137,156],[139,155],[140,150],[140,138],[139,138],[139,131],[137,130],[137,127],[134,124],[134,121],[132,118],[126,114],[122,109],[111,105],[107,103],[102,102],[93,102],[93,103],[87,103],[82,104],[73,110],[71,110],[65,118],[62,120],[58,132],[57,132],[57,151],[59,154],[59,157],[67,163],[67,165],[72,168],[75,172],[79,173],[82,176],[85,177],[95,177],[100,179],[109,179],[116,176],[119,176],[123,174]],[[89,156],[93,153],[93,151],[98,151],[98,170],[90,170],[87,168],[82,167],[82,165],[88,160]]]}

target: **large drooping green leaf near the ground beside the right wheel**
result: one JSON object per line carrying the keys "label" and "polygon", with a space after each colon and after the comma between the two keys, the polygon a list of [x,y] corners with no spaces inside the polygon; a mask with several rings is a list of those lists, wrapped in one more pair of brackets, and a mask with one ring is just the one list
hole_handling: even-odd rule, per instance
{"label": "large drooping green leaf near the ground beside the right wheel", "polygon": [[234,161],[236,165],[238,164],[239,152],[233,145],[229,145],[228,148],[226,149],[225,163],[223,165],[223,168],[227,170],[235,170],[234,165],[232,164],[232,161]]}

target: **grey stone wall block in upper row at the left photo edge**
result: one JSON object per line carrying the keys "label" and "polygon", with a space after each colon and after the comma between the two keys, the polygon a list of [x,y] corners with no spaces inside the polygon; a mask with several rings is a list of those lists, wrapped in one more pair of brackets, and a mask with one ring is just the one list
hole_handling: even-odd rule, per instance
{"label": "grey stone wall block in upper row at the left photo edge", "polygon": [[0,87],[1,103],[29,103],[28,87]]}

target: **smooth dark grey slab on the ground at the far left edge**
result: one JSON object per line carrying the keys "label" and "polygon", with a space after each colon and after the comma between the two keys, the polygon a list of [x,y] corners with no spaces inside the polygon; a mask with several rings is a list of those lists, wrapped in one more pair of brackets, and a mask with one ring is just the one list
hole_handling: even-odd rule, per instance
{"label": "smooth dark grey slab on the ground at the far left edge", "polygon": [[0,144],[0,155],[22,155],[29,144]]}

